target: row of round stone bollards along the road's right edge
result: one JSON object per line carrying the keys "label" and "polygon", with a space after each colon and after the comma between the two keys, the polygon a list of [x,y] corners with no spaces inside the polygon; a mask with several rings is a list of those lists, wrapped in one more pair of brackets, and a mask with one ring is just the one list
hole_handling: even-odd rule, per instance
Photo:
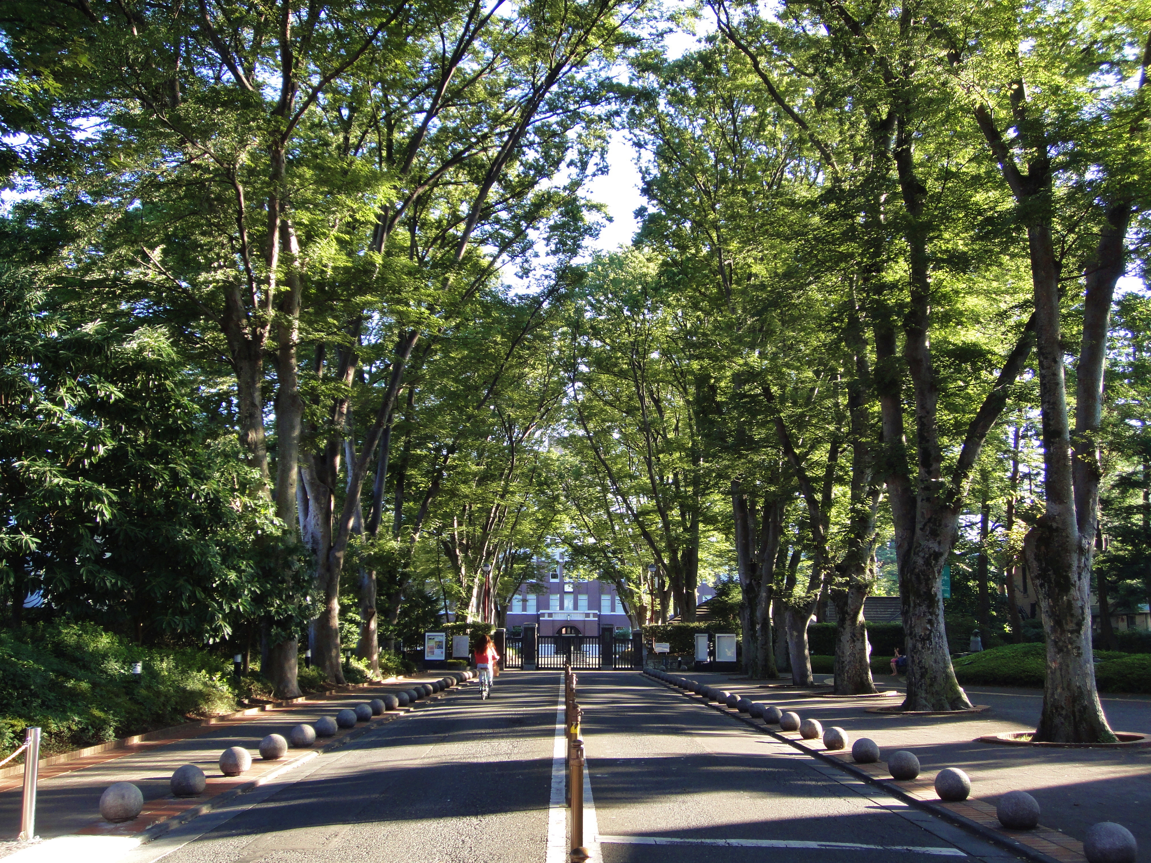
{"label": "row of round stone bollards along the road's right edge", "polygon": [[[798,731],[803,740],[822,740],[826,749],[843,750],[851,744],[852,759],[857,764],[875,764],[881,759],[879,747],[874,740],[860,738],[852,743],[847,732],[837,725],[824,728],[818,719],[801,719],[799,713],[783,711],[775,705],[750,701],[657,669],[646,670],[645,674],[693,692],[707,701],[716,701],[741,713],[763,719],[768,725],[778,725],[780,731]],[[887,771],[892,779],[917,779],[920,769],[920,759],[915,753],[901,749],[887,755]],[[936,774],[935,791],[939,800],[960,802],[970,796],[971,779],[959,767],[945,767]],[[999,797],[996,817],[1011,830],[1032,830],[1039,823],[1039,803],[1027,792],[1008,792]],[[1123,825],[1102,822],[1088,828],[1083,839],[1083,854],[1088,863],[1135,863],[1138,846],[1135,837]]]}

